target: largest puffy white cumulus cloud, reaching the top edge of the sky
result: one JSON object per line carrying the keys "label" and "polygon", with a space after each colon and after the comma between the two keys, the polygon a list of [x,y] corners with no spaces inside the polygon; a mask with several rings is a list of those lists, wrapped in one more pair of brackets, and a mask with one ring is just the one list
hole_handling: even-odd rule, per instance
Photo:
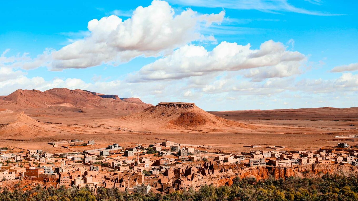
{"label": "largest puffy white cumulus cloud, reaching the top edge of the sky", "polygon": [[89,35],[60,50],[46,50],[34,59],[14,65],[24,69],[47,66],[52,70],[88,68],[101,64],[118,65],[139,56],[157,57],[191,41],[216,42],[200,28],[220,24],[225,11],[198,14],[187,9],[175,14],[166,1],[154,0],[150,6],[136,8],[123,20],[116,15],[88,22]]}

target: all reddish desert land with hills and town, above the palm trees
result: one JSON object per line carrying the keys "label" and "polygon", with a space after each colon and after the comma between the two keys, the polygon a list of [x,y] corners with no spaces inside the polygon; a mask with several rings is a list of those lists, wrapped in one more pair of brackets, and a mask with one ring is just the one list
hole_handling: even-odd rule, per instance
{"label": "all reddish desert land with hills and town, above the palm trees", "polygon": [[54,88],[16,90],[0,108],[1,168],[11,170],[3,185],[171,193],[231,185],[237,176],[358,172],[357,107],[206,112]]}

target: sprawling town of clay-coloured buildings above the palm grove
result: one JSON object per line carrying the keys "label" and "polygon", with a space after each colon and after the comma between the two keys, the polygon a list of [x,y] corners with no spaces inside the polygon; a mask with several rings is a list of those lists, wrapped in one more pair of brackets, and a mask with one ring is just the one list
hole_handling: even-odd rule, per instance
{"label": "sprawling town of clay-coloured buildings above the palm grove", "polygon": [[[53,148],[86,147],[95,143],[78,139],[48,142]],[[253,151],[210,152],[210,146],[173,141],[127,148],[113,143],[97,149],[62,153],[2,147],[0,187],[30,181],[31,185],[40,184],[44,188],[115,187],[129,193],[171,193],[198,189],[204,184],[230,185],[230,179],[260,167],[358,166],[358,146],[345,142],[315,151],[286,151],[282,146],[245,147]]]}

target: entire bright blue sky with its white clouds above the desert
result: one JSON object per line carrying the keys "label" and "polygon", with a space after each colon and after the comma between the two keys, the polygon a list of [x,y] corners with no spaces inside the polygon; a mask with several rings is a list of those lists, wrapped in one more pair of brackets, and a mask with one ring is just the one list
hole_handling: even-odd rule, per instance
{"label": "entire bright blue sky with its white clouds above the desert", "polygon": [[1,95],[66,87],[210,111],[358,106],[357,1],[2,4]]}

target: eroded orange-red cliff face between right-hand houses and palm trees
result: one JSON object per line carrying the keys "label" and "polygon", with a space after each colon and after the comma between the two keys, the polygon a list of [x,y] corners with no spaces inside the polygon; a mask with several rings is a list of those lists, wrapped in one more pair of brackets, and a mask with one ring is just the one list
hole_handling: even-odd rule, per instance
{"label": "eroded orange-red cliff face between right-hand houses and palm trees", "polygon": [[[267,179],[273,176],[275,179],[287,178],[290,176],[294,177],[320,177],[324,174],[343,174],[349,176],[351,174],[357,174],[358,168],[354,166],[343,166],[337,164],[313,164],[313,165],[302,165],[293,167],[258,167],[256,169],[247,169],[239,171],[237,176],[240,178],[255,177],[257,180]],[[218,183],[229,184],[232,183],[234,177],[222,179]]]}

